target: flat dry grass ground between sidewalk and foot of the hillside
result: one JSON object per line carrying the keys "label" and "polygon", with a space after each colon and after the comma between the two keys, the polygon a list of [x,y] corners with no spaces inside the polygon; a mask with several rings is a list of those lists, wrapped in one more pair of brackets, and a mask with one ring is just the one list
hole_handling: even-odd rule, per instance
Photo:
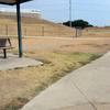
{"label": "flat dry grass ground between sidewalk and foot of the hillside", "polygon": [[[12,44],[16,47],[16,38]],[[23,38],[24,56],[44,64],[0,72],[0,109],[19,110],[43,89],[109,50],[109,37]]]}

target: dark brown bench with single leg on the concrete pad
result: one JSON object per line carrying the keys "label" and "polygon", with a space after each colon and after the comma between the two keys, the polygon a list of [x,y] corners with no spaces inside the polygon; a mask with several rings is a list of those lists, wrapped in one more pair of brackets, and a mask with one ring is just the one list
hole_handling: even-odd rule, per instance
{"label": "dark brown bench with single leg on the concrete pad", "polygon": [[11,50],[11,41],[10,38],[0,38],[0,50],[3,51],[4,58],[7,58],[7,50]]}

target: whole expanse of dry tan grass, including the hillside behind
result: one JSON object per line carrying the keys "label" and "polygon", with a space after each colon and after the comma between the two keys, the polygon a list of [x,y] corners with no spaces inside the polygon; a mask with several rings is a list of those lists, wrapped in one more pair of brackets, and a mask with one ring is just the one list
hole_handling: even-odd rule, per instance
{"label": "whole expanse of dry tan grass, including the hillside behind", "polygon": [[[16,54],[16,21],[15,16],[9,16],[0,15],[0,36],[10,36],[15,48],[9,52]],[[19,110],[69,72],[110,51],[109,30],[86,29],[80,37],[73,37],[75,30],[70,28],[42,19],[22,18],[22,33],[26,36],[23,38],[24,56],[44,64],[0,72],[0,110]]]}

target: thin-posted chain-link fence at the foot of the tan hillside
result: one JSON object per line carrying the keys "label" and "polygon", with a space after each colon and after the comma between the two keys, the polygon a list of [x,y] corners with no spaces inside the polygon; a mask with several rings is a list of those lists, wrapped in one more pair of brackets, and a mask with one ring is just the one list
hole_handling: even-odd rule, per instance
{"label": "thin-posted chain-link fence at the foot of the tan hillside", "polygon": [[[23,36],[43,36],[44,28],[35,25],[22,26]],[[15,24],[0,24],[0,36],[16,36],[18,26]]]}

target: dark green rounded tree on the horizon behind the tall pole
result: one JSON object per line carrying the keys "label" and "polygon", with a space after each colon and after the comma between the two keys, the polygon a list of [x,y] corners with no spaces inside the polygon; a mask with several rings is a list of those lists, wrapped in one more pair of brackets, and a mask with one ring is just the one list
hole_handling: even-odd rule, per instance
{"label": "dark green rounded tree on the horizon behind the tall pole", "polygon": [[[64,22],[63,24],[69,26],[70,21]],[[75,20],[75,21],[72,21],[72,26],[76,28],[76,29],[85,29],[85,28],[89,28],[89,26],[92,26],[92,25],[89,24],[87,21],[84,21],[84,20]]]}

